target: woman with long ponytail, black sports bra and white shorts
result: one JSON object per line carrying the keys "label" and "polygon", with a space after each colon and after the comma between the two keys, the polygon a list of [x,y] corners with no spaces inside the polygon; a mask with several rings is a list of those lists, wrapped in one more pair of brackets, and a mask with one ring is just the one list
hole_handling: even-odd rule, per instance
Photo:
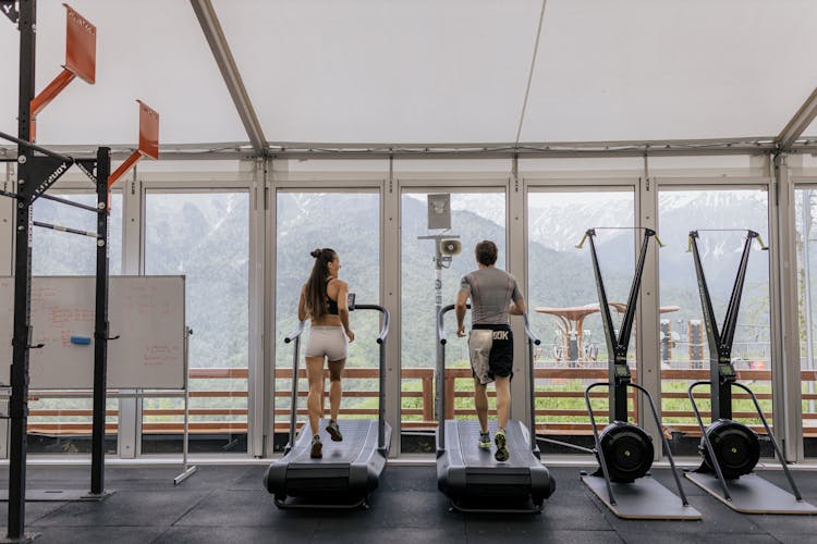
{"label": "woman with long ponytail, black sports bra and white shorts", "polygon": [[338,410],[341,401],[341,372],[346,362],[347,342],[355,339],[349,327],[349,285],[338,280],[340,259],[333,249],[325,247],[310,254],[315,258],[309,280],[301,288],[297,319],[312,319],[309,339],[306,343],[306,375],[309,395],[306,399],[312,426],[309,457],[320,459],[324,445],[320,442],[318,421],[324,415],[324,358],[329,361],[329,424],[326,431],[332,441],[340,442],[343,435],[338,426]]}

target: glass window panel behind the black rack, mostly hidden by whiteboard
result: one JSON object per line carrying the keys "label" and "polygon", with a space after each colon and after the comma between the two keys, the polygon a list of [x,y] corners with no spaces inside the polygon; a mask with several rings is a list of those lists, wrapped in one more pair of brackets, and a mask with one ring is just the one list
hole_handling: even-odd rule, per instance
{"label": "glass window panel behind the black rack, mostly hidden by whiteboard", "polygon": [[[95,193],[49,191],[66,200],[96,206]],[[38,199],[34,203],[34,220],[53,225],[96,232],[96,213],[71,206]],[[122,270],[122,194],[111,194],[109,223],[110,274]],[[32,233],[33,275],[94,275],[96,274],[97,246],[90,237],[35,226]],[[105,447],[108,454],[117,453],[119,403],[107,401]],[[44,454],[90,453],[94,403],[92,398],[45,398],[28,404],[28,450]]]}

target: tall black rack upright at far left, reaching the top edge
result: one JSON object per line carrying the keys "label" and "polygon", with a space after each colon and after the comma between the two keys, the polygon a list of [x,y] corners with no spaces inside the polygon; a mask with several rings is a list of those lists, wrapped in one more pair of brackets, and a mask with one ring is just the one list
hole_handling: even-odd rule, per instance
{"label": "tall black rack upright at far left, reaching the top edge", "polygon": [[[34,98],[36,62],[36,0],[20,0],[20,109],[17,135],[28,140],[31,102]],[[32,188],[29,180],[34,152],[24,146],[19,150],[17,214],[14,247],[14,337],[11,364],[11,444],[9,449],[9,540],[21,540],[25,533],[25,456],[28,424],[28,345],[31,342],[32,304]]]}

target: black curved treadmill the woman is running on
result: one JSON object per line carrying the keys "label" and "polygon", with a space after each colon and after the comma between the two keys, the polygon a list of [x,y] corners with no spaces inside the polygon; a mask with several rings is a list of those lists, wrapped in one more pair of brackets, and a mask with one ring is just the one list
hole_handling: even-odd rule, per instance
{"label": "black curved treadmill the woman is running on", "polygon": [[[350,298],[351,299],[351,298]],[[312,433],[308,423],[295,440],[297,412],[297,369],[301,333],[304,323],[284,342],[295,343],[290,441],[281,459],[273,461],[264,475],[267,491],[275,495],[279,508],[357,508],[367,507],[368,494],[375,491],[386,468],[391,443],[391,426],[386,422],[386,339],[389,335],[389,311],[378,305],[350,305],[352,310],[377,310],[382,313],[380,345],[380,394],[378,419],[343,419],[338,422],[342,442],[326,441],[324,458],[309,458]],[[318,428],[326,428],[321,419]]]}

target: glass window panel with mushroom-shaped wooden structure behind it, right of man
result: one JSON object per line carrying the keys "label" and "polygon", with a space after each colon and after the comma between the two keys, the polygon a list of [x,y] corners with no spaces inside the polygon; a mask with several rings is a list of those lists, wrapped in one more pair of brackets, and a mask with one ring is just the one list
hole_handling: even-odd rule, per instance
{"label": "glass window panel with mushroom-shaped wooden structure behind it, right of man", "polygon": [[[633,281],[634,209],[630,188],[528,194],[528,316],[541,339],[534,350],[536,421],[538,434],[551,440],[592,447],[584,391],[608,379],[607,343],[589,242],[581,250],[575,246],[585,231],[596,227],[599,267],[618,331]],[[635,339],[633,334],[629,351],[633,369]],[[593,395],[594,415],[603,423],[609,415],[607,390],[598,388]],[[630,405],[632,410],[632,396]],[[576,452],[550,442],[542,450],[561,455]]]}

